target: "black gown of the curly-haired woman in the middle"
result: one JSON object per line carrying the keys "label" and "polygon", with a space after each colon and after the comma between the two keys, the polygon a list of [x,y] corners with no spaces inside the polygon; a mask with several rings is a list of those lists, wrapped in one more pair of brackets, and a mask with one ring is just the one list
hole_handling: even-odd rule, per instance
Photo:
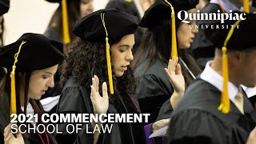
{"label": "black gown of the curly-haired woman in the middle", "polygon": [[[131,100],[133,99],[133,100]],[[131,98],[126,92],[120,94],[117,101],[110,102],[107,113],[112,114],[138,114],[138,108],[134,105],[134,98]],[[63,88],[62,95],[58,104],[58,113],[73,114],[93,114],[93,106],[90,101],[90,89],[78,86],[73,78],[70,78]],[[62,134],[57,134],[58,143],[88,143],[94,142],[94,134],[86,134],[86,131],[92,131],[90,123],[82,123],[82,130],[78,134],[68,134],[66,125],[68,123],[58,124],[58,130]],[[87,129],[87,127],[89,129]],[[113,123],[110,134],[100,134],[98,143],[106,144],[143,144],[145,134],[142,123]]]}

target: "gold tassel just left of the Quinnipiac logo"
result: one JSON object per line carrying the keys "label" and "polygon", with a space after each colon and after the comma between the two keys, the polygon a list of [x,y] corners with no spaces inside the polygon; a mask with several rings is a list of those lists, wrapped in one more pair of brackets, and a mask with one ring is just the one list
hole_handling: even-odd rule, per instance
{"label": "gold tassel just left of the Quinnipiac logo", "polygon": [[171,10],[171,54],[170,59],[174,57],[178,57],[178,51],[177,51],[177,42],[176,42],[176,23],[175,23],[175,13],[174,13],[174,7],[165,0],[168,5],[170,5]]}

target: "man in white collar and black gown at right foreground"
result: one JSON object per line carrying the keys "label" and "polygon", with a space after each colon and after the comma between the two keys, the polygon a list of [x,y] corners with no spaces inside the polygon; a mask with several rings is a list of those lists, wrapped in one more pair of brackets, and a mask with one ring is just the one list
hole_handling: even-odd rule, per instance
{"label": "man in white collar and black gown at right foreground", "polygon": [[255,14],[246,14],[230,39],[226,38],[229,29],[211,37],[217,47],[214,61],[206,64],[178,103],[167,132],[168,144],[244,144],[255,138],[256,114],[240,86],[256,86],[255,20]]}

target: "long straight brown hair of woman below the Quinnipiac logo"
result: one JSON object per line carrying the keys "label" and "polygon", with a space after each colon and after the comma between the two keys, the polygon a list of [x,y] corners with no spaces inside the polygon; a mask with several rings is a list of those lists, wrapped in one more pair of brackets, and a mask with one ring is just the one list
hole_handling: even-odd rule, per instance
{"label": "long straight brown hair of woman below the Quinnipiac logo", "polygon": [[[178,30],[180,22],[180,20],[176,19],[176,30]],[[149,64],[146,70],[150,67],[150,63],[154,62],[156,59],[159,59],[162,63],[168,64],[170,52],[171,22],[170,19],[165,19],[159,23],[159,26],[154,26],[153,28],[146,30],[146,34],[144,34],[144,37],[142,38],[142,43],[139,46],[138,51],[134,54],[134,61],[131,66],[136,69],[139,64],[146,59],[149,59]],[[202,72],[188,50],[178,48],[178,56],[182,58],[195,76]],[[180,62],[180,64],[182,66],[182,73],[188,84],[193,78],[190,77],[188,70],[186,70],[182,62]],[[146,72],[146,70],[144,72]]]}

